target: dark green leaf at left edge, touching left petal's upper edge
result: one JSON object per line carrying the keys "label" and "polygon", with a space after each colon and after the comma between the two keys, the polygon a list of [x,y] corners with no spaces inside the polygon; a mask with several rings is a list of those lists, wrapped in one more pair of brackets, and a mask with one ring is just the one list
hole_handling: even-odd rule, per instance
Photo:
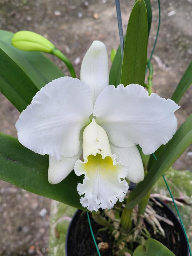
{"label": "dark green leaf at left edge, touching left petal's upper edge", "polygon": [[0,91],[21,112],[38,89],[24,71],[0,49]]}

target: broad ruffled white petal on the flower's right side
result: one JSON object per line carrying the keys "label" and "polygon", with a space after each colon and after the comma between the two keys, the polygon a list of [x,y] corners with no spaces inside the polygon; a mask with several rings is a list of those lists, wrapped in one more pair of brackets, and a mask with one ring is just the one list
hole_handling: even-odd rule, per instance
{"label": "broad ruffled white petal on the flower's right side", "polygon": [[109,141],[120,147],[139,144],[144,154],[151,154],[166,144],[177,129],[174,112],[179,106],[160,98],[140,85],[125,88],[107,86],[98,96],[93,116],[107,132]]}

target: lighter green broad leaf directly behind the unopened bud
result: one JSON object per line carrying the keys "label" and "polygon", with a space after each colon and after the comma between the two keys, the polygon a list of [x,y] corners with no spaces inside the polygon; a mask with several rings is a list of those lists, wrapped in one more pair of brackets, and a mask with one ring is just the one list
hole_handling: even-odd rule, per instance
{"label": "lighter green broad leaf directly behind the unopened bud", "polygon": [[0,30],[0,48],[17,63],[38,89],[64,76],[63,72],[45,54],[21,51],[13,47],[11,45],[13,35],[11,32]]}

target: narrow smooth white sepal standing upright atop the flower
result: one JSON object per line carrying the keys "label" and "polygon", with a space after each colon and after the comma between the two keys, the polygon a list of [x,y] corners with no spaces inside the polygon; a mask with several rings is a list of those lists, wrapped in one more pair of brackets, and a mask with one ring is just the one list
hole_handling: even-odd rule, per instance
{"label": "narrow smooth white sepal standing upright atop the flower", "polygon": [[93,101],[109,85],[108,56],[104,43],[93,41],[83,58],[81,80],[90,86]]}

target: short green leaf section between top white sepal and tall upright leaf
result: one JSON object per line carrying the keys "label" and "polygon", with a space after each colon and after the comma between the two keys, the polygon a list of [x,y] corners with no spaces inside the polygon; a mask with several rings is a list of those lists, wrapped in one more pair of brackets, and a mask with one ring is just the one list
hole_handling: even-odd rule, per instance
{"label": "short green leaf section between top white sepal and tall upright leaf", "polygon": [[111,65],[109,73],[109,84],[117,87],[120,84],[121,79],[121,67],[122,67],[122,57],[120,45],[117,49],[113,63]]}

